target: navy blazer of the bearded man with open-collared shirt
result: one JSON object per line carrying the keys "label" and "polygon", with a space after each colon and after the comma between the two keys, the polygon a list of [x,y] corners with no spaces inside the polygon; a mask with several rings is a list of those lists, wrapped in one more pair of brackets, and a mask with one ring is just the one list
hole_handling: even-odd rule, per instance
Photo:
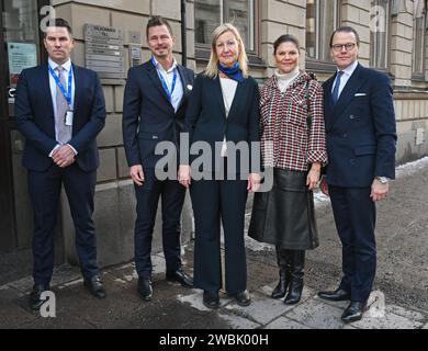
{"label": "navy blazer of the bearded man with open-collared shirt", "polygon": [[151,60],[129,69],[123,101],[123,144],[128,166],[155,168],[162,156],[155,155],[159,141],[179,146],[184,113],[194,72],[178,65],[183,98],[177,113],[170,103]]}

